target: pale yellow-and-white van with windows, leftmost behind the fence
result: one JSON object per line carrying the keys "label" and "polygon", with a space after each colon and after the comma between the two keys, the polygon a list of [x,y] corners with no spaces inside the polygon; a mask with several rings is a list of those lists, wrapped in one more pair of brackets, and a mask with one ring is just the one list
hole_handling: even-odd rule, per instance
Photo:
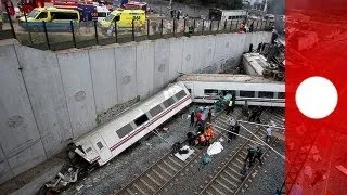
{"label": "pale yellow-and-white van with windows, leftmost behind the fence", "polygon": [[43,31],[43,23],[48,31],[70,31],[73,22],[74,27],[80,21],[79,12],[76,10],[65,10],[56,8],[34,9],[26,17],[20,18],[20,26],[26,30]]}

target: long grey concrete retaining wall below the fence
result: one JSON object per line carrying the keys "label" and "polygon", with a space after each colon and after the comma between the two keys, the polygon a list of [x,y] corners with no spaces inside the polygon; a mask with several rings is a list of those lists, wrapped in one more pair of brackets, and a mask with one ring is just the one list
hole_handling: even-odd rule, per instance
{"label": "long grey concrete retaining wall below the fence", "polygon": [[159,91],[179,73],[216,73],[269,32],[181,37],[56,53],[0,42],[0,183]]}

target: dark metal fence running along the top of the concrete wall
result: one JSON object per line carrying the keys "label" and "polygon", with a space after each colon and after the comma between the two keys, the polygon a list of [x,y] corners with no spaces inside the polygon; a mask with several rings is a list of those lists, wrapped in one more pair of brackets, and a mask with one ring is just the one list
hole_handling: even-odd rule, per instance
{"label": "dark metal fence running along the top of the concrete wall", "polygon": [[[8,18],[8,22],[3,23],[7,29],[0,31],[0,39],[16,38],[22,44],[53,51],[159,38],[236,32],[241,25],[239,21],[154,18],[147,20],[141,26],[132,21],[129,28],[119,28],[116,22],[102,28],[97,22],[14,23],[11,17]],[[247,25],[250,26],[252,23],[254,31],[267,30],[272,26],[269,22],[252,20]]]}

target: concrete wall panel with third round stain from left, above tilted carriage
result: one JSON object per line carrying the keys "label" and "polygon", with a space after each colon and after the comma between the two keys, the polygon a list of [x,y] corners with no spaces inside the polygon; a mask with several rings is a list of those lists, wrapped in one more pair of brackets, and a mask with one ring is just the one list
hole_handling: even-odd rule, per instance
{"label": "concrete wall panel with third round stain from left, above tilted carriage", "polygon": [[115,48],[118,103],[138,95],[136,43]]}

